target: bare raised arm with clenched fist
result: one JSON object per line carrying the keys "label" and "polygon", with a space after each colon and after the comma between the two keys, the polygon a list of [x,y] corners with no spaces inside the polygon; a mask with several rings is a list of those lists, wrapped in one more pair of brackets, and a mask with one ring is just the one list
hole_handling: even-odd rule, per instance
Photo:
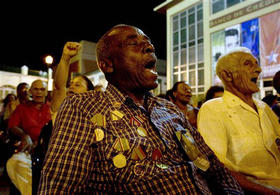
{"label": "bare raised arm with clenched fist", "polygon": [[69,73],[70,59],[77,55],[81,45],[76,42],[67,42],[64,45],[62,57],[54,75],[54,90],[51,101],[52,112],[57,112],[62,101],[66,97],[66,84]]}

